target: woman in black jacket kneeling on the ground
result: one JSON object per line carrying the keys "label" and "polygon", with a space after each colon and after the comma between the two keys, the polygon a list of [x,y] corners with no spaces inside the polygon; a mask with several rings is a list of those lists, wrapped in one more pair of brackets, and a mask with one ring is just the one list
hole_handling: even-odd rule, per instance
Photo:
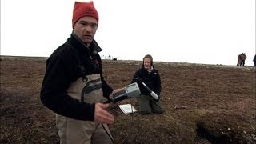
{"label": "woman in black jacket kneeling on the ground", "polygon": [[[139,89],[141,90],[141,95],[136,98],[140,114],[162,114],[164,110],[162,109],[162,103],[160,102],[160,93],[161,93],[161,78],[153,66],[153,58],[150,54],[147,54],[143,58],[142,67],[137,70],[132,78],[132,83],[137,82]],[[142,82],[154,91],[158,95],[158,100],[154,99],[150,95],[150,91],[146,90],[146,86],[143,86]]]}

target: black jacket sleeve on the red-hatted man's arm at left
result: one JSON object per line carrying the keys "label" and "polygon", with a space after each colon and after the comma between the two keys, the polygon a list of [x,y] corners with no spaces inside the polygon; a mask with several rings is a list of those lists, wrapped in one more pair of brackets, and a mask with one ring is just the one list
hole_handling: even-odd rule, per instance
{"label": "black jacket sleeve on the red-hatted man's arm at left", "polygon": [[54,113],[78,120],[94,121],[95,104],[80,102],[70,97],[66,91],[74,73],[74,59],[66,54],[66,57],[60,58],[58,55],[47,60],[40,98]]}

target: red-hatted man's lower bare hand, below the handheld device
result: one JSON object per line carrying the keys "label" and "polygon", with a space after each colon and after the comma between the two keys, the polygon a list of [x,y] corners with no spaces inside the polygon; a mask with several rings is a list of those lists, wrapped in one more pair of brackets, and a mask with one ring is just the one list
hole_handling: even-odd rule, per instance
{"label": "red-hatted man's lower bare hand, below the handheld device", "polygon": [[114,116],[106,111],[109,106],[109,104],[95,103],[94,122],[113,124]]}

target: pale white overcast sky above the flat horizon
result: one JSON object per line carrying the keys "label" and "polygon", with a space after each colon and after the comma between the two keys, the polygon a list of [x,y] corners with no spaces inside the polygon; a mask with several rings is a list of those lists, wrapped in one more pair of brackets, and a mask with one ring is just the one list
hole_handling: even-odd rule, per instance
{"label": "pale white overcast sky above the flat horizon", "polygon": [[[82,1],[82,2],[89,2]],[[236,65],[255,55],[255,0],[94,0],[103,58]],[[50,54],[72,32],[74,0],[1,0],[1,55]]]}

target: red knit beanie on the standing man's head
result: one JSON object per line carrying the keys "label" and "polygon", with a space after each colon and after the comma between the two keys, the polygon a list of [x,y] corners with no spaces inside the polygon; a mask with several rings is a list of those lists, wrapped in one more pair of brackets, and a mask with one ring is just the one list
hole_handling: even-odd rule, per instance
{"label": "red knit beanie on the standing man's head", "polygon": [[90,16],[96,18],[98,22],[98,12],[94,7],[94,2],[75,2],[73,10],[72,26],[82,17]]}

